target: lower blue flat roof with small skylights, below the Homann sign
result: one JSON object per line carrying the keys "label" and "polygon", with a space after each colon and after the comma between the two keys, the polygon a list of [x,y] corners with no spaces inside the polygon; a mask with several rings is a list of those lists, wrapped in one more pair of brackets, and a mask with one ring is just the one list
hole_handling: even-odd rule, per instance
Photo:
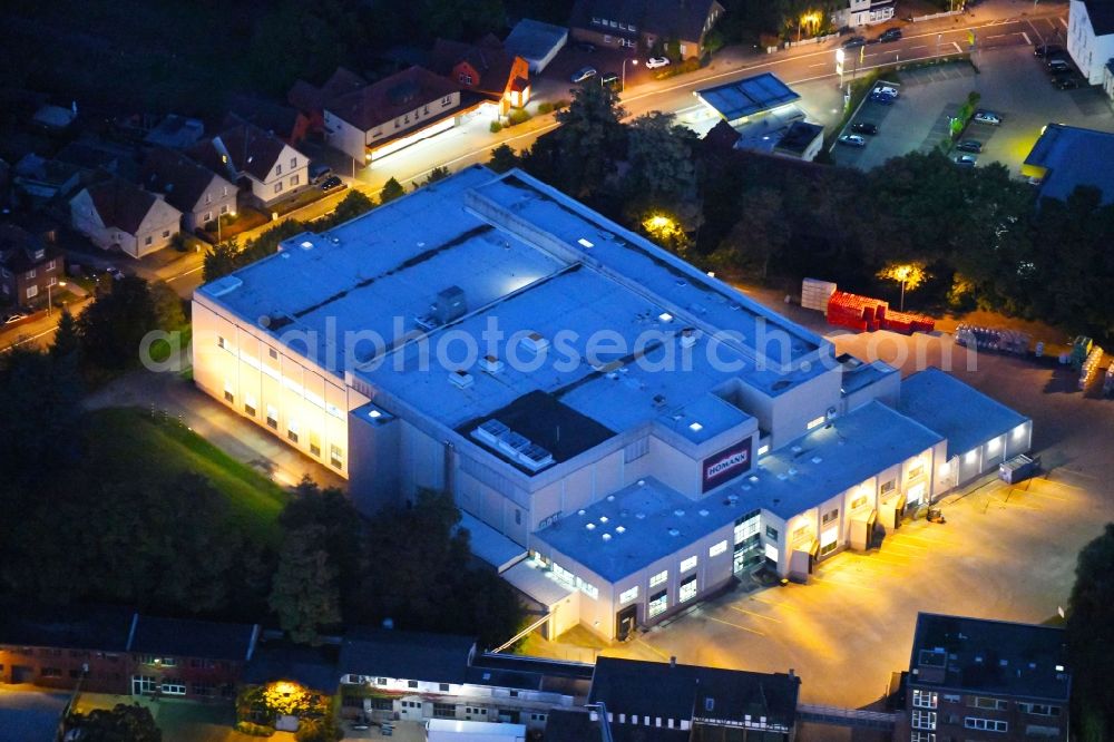
{"label": "lower blue flat roof with small skylights, below the Homann sign", "polygon": [[616,582],[734,524],[744,512],[764,508],[790,518],[939,441],[920,423],[881,402],[868,402],[836,418],[830,428],[817,428],[763,457],[734,484],[700,500],[647,477],[535,536]]}

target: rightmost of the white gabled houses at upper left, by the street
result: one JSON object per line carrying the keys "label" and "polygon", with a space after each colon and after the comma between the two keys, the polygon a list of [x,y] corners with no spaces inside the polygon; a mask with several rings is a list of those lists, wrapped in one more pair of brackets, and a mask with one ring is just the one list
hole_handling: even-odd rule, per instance
{"label": "rightmost of the white gabled houses at upper left, by the street", "polygon": [[252,124],[238,124],[199,144],[190,154],[226,175],[267,208],[310,185],[310,158]]}

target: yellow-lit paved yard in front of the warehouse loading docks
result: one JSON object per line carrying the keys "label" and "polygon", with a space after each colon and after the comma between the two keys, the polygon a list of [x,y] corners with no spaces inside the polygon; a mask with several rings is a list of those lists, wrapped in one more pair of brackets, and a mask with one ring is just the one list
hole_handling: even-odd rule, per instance
{"label": "yellow-lit paved yard in front of the warehouse loading docks", "polygon": [[[871,333],[873,334],[873,333]],[[869,335],[841,335],[840,350],[866,350]],[[944,355],[948,336],[925,358]],[[895,335],[877,346],[890,360],[917,353]],[[955,358],[955,357],[954,357]],[[1042,622],[1066,605],[1078,549],[1114,511],[1105,467],[1114,402],[1069,391],[1069,371],[980,355],[955,372],[1034,419],[1046,473],[1009,487],[993,477],[950,495],[947,523],[924,520],[888,533],[880,548],[821,563],[808,585],[736,590],[670,626],[604,654],[785,672],[802,677],[802,700],[858,707],[879,699],[890,673],[907,668],[919,611]],[[1068,382],[1068,383],[1065,383]]]}

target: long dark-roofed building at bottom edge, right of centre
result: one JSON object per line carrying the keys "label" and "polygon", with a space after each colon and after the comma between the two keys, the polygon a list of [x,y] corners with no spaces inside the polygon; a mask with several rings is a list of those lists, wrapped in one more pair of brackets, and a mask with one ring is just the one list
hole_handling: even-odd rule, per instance
{"label": "long dark-roofed building at bottom edge, right of centre", "polygon": [[615,742],[790,742],[800,686],[792,670],[753,673],[681,665],[675,658],[598,657],[587,704],[592,713],[555,713],[546,740],[598,739],[585,732],[606,725]]}

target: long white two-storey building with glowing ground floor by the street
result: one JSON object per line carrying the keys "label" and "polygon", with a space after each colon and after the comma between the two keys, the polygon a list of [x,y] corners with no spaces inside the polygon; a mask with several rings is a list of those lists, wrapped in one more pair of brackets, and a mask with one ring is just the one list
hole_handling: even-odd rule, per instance
{"label": "long white two-storey building with glowing ground floor by the street", "polygon": [[358,163],[373,163],[451,129],[480,102],[440,75],[411,67],[326,101],[325,141]]}

